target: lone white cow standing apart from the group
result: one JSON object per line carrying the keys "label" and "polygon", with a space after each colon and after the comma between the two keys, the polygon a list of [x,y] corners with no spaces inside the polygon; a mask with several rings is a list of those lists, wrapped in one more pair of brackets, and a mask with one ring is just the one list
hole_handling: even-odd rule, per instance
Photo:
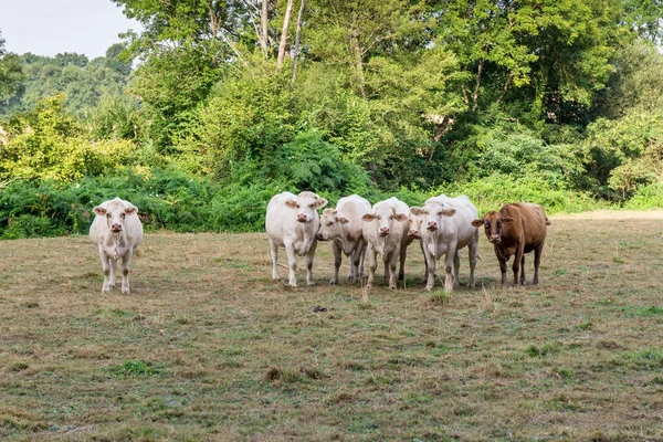
{"label": "lone white cow standing apart from the group", "polygon": [[117,261],[122,257],[122,293],[129,293],[129,264],[134,251],[143,242],[143,224],[138,208],[128,201],[115,198],[94,208],[94,221],[90,227],[90,239],[97,245],[104,284],[102,293],[115,287]]}

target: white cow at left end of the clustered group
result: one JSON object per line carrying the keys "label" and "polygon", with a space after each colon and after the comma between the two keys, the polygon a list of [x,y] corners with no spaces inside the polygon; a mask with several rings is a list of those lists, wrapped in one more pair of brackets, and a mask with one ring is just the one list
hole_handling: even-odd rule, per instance
{"label": "white cow at left end of the clustered group", "polygon": [[295,196],[291,192],[275,194],[267,204],[265,229],[270,236],[272,253],[272,278],[278,280],[278,246],[285,248],[290,269],[288,282],[297,286],[295,271],[297,256],[306,256],[306,283],[313,282],[313,256],[317,246],[315,234],[320,221],[317,209],[327,206],[327,200],[313,192],[302,192]]}

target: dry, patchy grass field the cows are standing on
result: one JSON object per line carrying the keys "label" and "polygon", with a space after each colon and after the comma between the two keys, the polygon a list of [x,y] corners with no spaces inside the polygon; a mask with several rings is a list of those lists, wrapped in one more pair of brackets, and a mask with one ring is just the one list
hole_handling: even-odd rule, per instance
{"label": "dry, patchy grass field the cows are standing on", "polygon": [[0,439],[663,440],[663,215],[551,220],[538,287],[482,233],[480,288],[412,246],[368,303],[326,243],[293,290],[264,234],[148,234],[101,295],[87,238],[0,242]]}

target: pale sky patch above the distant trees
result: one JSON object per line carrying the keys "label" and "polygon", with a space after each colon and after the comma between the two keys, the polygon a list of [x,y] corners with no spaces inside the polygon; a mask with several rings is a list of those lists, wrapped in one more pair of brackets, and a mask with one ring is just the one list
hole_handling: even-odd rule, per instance
{"label": "pale sky patch above the distant trees", "polygon": [[105,56],[117,36],[140,24],[110,0],[0,0],[4,50],[53,56],[62,52]]}

